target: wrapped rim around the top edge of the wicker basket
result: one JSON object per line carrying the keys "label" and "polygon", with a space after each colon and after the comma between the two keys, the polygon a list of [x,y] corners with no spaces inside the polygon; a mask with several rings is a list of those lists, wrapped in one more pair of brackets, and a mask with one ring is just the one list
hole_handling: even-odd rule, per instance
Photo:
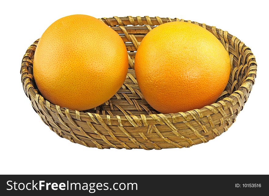
{"label": "wrapped rim around the top edge of the wicker basket", "polygon": [[[131,16],[127,16],[127,17],[114,16],[113,18],[101,18],[99,20],[103,21],[104,23],[106,23],[110,27],[114,27],[115,23],[117,23],[116,26],[120,26],[120,25],[126,26],[124,24],[124,21],[126,19],[129,20],[130,17]],[[137,17],[139,17],[139,16],[137,16]],[[219,32],[219,33],[227,36],[227,40],[225,40],[226,42],[228,42],[230,44],[235,44],[235,42],[236,42],[236,44],[239,46],[239,49],[240,49],[239,51],[237,51],[238,54],[240,54],[242,56],[242,58],[247,59],[247,62],[249,62],[249,64],[251,64],[251,66],[257,65],[255,57],[254,57],[251,49],[249,47],[247,47],[242,41],[240,41],[237,37],[229,34],[227,31],[217,29],[214,26],[205,25],[205,23],[197,23],[197,22],[193,22],[190,20],[183,20],[183,19],[179,20],[178,18],[170,19],[170,18],[145,16],[145,17],[140,17],[140,19],[141,19],[141,21],[146,21],[146,22],[149,22],[149,20],[157,20],[159,22],[159,24],[161,24],[165,21],[166,22],[184,21],[184,22],[191,22],[191,23],[197,24],[197,25],[204,27],[206,29],[207,28],[214,29],[215,32]],[[139,23],[139,21],[138,21],[138,23]],[[143,25],[145,25],[145,24],[143,24]],[[149,25],[149,24],[146,24],[146,25]],[[139,26],[141,26],[141,25],[139,25]],[[217,34],[214,34],[214,35],[216,36]],[[222,37],[222,39],[223,39],[223,37]],[[39,39],[37,39],[35,42],[38,42],[38,41],[39,41]],[[31,50],[33,47],[37,46],[37,43],[35,43],[35,42],[28,48],[28,50]],[[28,66],[33,65],[32,57],[34,56],[34,54],[29,54],[27,51],[22,59],[20,73],[21,73],[21,82],[23,84],[25,94],[28,96],[28,98],[30,98],[30,100],[31,100],[31,98],[35,98],[36,102],[39,103],[42,106],[42,108],[52,110],[53,112],[58,112],[62,116],[64,116],[64,113],[68,112],[68,113],[70,113],[71,116],[73,116],[74,118],[77,118],[77,119],[83,119],[83,118],[90,117],[90,118],[92,118],[92,120],[96,120],[96,116],[100,116],[102,119],[107,119],[107,116],[109,116],[110,119],[113,119],[116,121],[119,120],[118,116],[102,115],[102,114],[97,114],[97,113],[71,110],[71,109],[68,109],[66,107],[60,107],[58,105],[54,105],[54,104],[50,103],[48,100],[44,99],[42,97],[42,95],[39,94],[35,90],[35,88],[33,87],[33,81],[32,81],[33,75],[28,73]],[[243,54],[245,54],[245,55],[243,56]],[[25,69],[25,66],[27,66],[27,69]],[[242,84],[238,87],[238,90],[232,89],[233,92],[230,93],[229,97],[223,98],[222,100],[215,102],[217,104],[215,104],[214,106],[216,107],[216,105],[218,105],[218,104],[232,106],[232,105],[235,105],[237,102],[239,102],[239,104],[240,104],[242,98],[245,97],[245,95],[252,90],[252,86],[255,82],[255,77],[256,77],[256,72],[252,73],[248,70],[246,73],[246,78],[245,78],[245,80],[242,81]],[[234,85],[235,84],[233,84],[233,86]],[[157,121],[162,120],[163,116],[165,118],[172,119],[173,122],[174,122],[173,118],[175,118],[175,119],[182,118],[182,120],[179,120],[179,121],[183,121],[184,120],[183,118],[190,118],[190,119],[195,118],[193,116],[193,114],[196,117],[201,118],[203,116],[207,116],[207,115],[211,115],[213,113],[216,113],[216,112],[214,112],[214,110],[210,109],[210,108],[212,108],[211,105],[207,105],[207,106],[204,106],[203,108],[193,109],[193,110],[186,111],[186,112],[177,112],[177,113],[168,113],[168,114],[158,113],[156,115],[154,114],[154,118],[155,118],[154,120],[153,120],[152,114],[147,114],[144,116],[145,116],[147,121],[153,120],[152,124],[154,124],[154,121],[156,121],[156,120]],[[217,107],[217,109],[218,109],[217,112],[221,113],[221,109],[219,109],[219,107]],[[143,121],[142,115],[120,115],[119,117],[121,120],[124,119],[124,120],[128,120],[129,122],[131,122],[129,118],[131,118],[132,116],[136,116],[139,120]],[[175,121],[175,122],[178,122],[178,121]],[[156,122],[155,122],[155,124],[156,124]]]}

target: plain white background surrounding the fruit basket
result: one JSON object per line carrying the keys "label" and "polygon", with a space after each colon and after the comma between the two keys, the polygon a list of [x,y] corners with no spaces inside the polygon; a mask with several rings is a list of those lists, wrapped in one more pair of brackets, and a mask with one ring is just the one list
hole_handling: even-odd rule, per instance
{"label": "plain white background surrounding the fruit basket", "polygon": [[[264,1],[3,1],[0,174],[269,174],[268,7]],[[252,49],[257,78],[226,133],[191,148],[86,148],[58,137],[32,109],[20,81],[28,48],[57,19],[87,14],[160,16],[227,30]]]}

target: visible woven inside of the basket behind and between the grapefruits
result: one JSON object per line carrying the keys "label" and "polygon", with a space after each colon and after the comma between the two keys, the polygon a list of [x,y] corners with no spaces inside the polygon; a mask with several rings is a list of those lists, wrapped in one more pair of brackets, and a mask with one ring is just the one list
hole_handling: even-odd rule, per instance
{"label": "visible woven inside of the basket behind and between the grapefruits", "polygon": [[[124,20],[124,18],[121,18],[119,21],[119,18],[115,18],[114,22],[113,20],[111,20],[111,18],[109,20],[107,20],[106,18],[100,19],[120,35],[127,48],[129,57],[129,69],[124,84],[119,89],[119,91],[117,91],[117,93],[107,102],[93,109],[88,109],[83,112],[97,113],[101,115],[110,115],[110,116],[141,115],[141,114],[149,115],[160,113],[157,112],[155,109],[153,109],[143,98],[143,95],[136,81],[134,70],[134,59],[138,45],[142,41],[143,37],[145,37],[145,35],[150,30],[160,25],[160,21],[153,20],[155,18],[153,19],[150,18],[151,19],[150,23],[147,19],[146,21],[143,21],[142,19],[140,24],[139,21],[137,20],[134,20],[133,24],[131,24],[132,21],[130,20],[130,18],[127,19],[128,20]],[[170,19],[170,20],[176,21],[178,19]],[[190,22],[186,20],[184,21]],[[223,36],[220,35],[220,33],[222,34],[222,30],[216,29],[215,27],[207,26],[205,24],[200,24],[196,22],[192,23],[200,25],[201,27],[204,27],[211,33],[213,33],[223,44],[223,46],[227,49],[230,55],[230,62],[232,65],[230,78],[225,90],[218,98],[218,100],[216,100],[217,102],[225,97],[228,97],[234,91],[238,90],[238,88],[242,84],[247,74],[247,69],[245,69],[244,67],[245,59],[243,58],[242,55],[239,54],[237,49],[229,43],[228,40],[223,39]],[[227,34],[227,39],[233,39],[233,37],[234,36]],[[33,86],[35,90],[39,92],[37,86],[35,85],[34,80],[33,80]]]}

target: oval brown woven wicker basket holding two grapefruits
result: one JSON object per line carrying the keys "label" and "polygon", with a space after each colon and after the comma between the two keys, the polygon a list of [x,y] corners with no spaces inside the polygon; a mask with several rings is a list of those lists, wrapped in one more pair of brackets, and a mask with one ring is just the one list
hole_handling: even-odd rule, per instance
{"label": "oval brown woven wicker basket holding two grapefruits", "polygon": [[[227,31],[205,24],[160,17],[116,17],[100,19],[125,42],[129,70],[120,90],[104,104],[86,111],[61,108],[44,100],[33,76],[33,59],[38,40],[26,51],[21,64],[24,91],[42,121],[60,137],[97,148],[183,148],[219,136],[235,122],[254,84],[257,65],[251,50]],[[185,21],[206,28],[230,55],[231,73],[227,87],[216,103],[187,112],[160,114],[145,101],[135,79],[135,52],[143,37],[154,27]]]}

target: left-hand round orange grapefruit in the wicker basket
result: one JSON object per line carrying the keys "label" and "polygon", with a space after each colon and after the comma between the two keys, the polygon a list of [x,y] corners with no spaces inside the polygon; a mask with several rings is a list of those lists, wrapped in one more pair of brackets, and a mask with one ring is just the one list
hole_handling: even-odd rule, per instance
{"label": "left-hand round orange grapefruit in the wicker basket", "polygon": [[109,100],[123,84],[127,70],[123,40],[87,15],[66,16],[50,25],[38,42],[33,64],[42,96],[76,110]]}

